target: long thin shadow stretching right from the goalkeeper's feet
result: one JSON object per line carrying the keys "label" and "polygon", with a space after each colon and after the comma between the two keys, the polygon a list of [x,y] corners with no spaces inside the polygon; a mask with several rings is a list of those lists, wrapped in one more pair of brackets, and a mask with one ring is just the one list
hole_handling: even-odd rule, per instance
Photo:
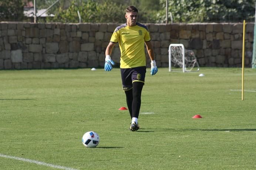
{"label": "long thin shadow stretching right from the goalkeeper's feet", "polygon": [[245,131],[256,131],[256,129],[154,129],[144,128],[139,129],[137,132],[186,132],[186,131],[225,131],[225,132],[245,132]]}

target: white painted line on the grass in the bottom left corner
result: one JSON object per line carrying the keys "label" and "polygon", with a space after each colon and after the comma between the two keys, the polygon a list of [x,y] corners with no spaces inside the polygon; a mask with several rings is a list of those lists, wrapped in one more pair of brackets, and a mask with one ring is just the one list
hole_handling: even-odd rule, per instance
{"label": "white painted line on the grass in the bottom left corner", "polygon": [[23,162],[35,163],[35,164],[38,164],[38,165],[53,167],[53,168],[57,168],[57,169],[77,170],[77,169],[73,169],[73,168],[70,168],[70,167],[59,166],[59,165],[54,165],[54,164],[49,164],[49,163],[40,162],[40,161],[37,161],[37,160],[25,159],[25,158],[16,157],[16,156],[3,155],[3,154],[1,154],[1,153],[0,153],[0,157],[9,158],[9,159],[15,159],[15,160],[20,160],[20,161],[23,161]]}

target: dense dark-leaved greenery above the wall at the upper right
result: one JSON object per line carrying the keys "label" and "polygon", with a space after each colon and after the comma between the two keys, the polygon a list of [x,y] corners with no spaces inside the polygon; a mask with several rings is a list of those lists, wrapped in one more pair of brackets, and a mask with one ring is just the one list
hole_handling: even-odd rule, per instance
{"label": "dense dark-leaved greenery above the wall at the upper right", "polygon": [[[165,22],[165,3],[160,0],[158,22]],[[254,0],[169,0],[169,13],[174,22],[225,22],[252,20]]]}

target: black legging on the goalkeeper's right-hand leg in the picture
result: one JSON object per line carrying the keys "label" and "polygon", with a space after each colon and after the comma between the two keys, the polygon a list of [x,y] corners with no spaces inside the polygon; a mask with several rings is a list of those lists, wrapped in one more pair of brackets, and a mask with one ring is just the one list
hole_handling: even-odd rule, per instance
{"label": "black legging on the goalkeeper's right-hand leg in the picture", "polygon": [[139,109],[141,108],[141,91],[144,83],[134,81],[132,83],[132,117],[139,118]]}

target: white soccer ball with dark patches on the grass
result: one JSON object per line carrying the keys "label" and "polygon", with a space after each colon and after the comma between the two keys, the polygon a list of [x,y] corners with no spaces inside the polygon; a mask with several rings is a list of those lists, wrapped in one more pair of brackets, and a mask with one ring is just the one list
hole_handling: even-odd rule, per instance
{"label": "white soccer ball with dark patches on the grass", "polygon": [[93,131],[86,132],[82,136],[82,144],[87,148],[95,148],[99,142],[100,136]]}

